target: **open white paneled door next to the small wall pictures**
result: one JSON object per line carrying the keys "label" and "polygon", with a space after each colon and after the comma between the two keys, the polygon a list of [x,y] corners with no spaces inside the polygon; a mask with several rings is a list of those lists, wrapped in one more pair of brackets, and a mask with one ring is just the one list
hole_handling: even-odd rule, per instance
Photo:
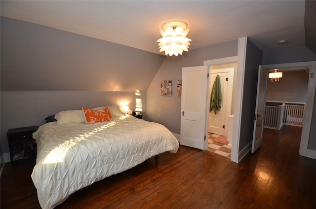
{"label": "open white paneled door next to the small wall pictures", "polygon": [[204,149],[206,137],[207,66],[182,69],[180,143]]}

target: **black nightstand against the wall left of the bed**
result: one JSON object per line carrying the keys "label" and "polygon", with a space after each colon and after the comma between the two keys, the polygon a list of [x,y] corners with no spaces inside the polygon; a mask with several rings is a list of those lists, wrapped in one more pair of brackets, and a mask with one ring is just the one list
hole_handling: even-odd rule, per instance
{"label": "black nightstand against the wall left of the bed", "polygon": [[35,162],[36,143],[32,134],[38,126],[9,129],[6,133],[10,148],[11,164]]}

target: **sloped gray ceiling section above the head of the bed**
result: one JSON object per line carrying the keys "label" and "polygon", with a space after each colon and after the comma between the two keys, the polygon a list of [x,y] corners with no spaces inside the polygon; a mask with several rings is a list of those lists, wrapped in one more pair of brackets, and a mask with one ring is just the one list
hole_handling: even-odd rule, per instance
{"label": "sloped gray ceiling section above the head of the bed", "polygon": [[165,56],[1,17],[1,91],[147,90]]}

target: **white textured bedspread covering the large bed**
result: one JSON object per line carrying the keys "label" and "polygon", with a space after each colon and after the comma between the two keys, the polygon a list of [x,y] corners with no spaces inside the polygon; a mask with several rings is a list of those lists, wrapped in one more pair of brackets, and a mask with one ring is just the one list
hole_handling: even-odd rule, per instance
{"label": "white textured bedspread covering the large bed", "polygon": [[38,154],[32,179],[43,209],[54,208],[93,182],[179,148],[161,124],[128,115],[90,125],[50,122],[33,138]]}

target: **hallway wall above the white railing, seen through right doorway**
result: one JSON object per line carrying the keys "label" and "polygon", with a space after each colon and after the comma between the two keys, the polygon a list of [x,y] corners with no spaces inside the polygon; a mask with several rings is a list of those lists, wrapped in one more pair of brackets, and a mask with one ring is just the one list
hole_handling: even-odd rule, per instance
{"label": "hallway wall above the white railing, seen through right doorway", "polygon": [[[306,103],[309,72],[286,71],[278,82],[267,83],[267,101]],[[295,88],[293,88],[295,86]]]}

